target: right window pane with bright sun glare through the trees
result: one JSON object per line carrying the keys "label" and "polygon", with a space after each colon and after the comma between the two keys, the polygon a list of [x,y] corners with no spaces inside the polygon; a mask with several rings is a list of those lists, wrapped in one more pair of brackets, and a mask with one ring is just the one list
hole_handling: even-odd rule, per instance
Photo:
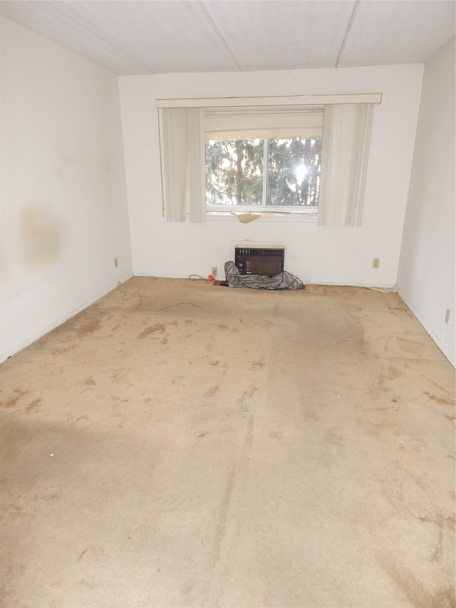
{"label": "right window pane with bright sun glare through the trees", "polygon": [[266,205],[318,205],[321,138],[269,140]]}

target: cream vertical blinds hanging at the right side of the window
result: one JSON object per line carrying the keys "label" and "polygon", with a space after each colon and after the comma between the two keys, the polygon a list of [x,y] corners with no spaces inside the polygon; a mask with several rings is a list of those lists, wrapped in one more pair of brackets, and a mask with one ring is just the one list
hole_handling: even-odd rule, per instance
{"label": "cream vertical blinds hanging at the right side of the window", "polygon": [[361,226],[373,105],[325,107],[318,226]]}

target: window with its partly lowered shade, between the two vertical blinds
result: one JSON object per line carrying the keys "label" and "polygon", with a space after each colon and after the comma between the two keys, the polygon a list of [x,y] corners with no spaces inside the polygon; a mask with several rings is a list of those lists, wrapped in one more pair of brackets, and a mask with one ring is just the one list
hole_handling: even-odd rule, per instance
{"label": "window with its partly lowered shade, between the two vertical blinds", "polygon": [[209,211],[316,212],[323,107],[204,112]]}

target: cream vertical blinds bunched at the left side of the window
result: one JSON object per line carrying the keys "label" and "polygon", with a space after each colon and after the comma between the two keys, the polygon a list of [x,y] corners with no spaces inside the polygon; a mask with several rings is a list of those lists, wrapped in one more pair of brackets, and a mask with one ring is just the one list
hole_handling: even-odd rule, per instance
{"label": "cream vertical blinds bunched at the left side of the window", "polygon": [[160,119],[166,219],[185,222],[188,202],[190,222],[204,222],[204,110],[162,108]]}

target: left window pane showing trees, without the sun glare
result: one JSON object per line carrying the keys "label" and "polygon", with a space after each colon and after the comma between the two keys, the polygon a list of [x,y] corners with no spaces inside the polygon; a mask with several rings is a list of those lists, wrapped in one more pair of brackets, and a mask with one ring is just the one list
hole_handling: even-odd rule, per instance
{"label": "left window pane showing trees, without the sun glare", "polygon": [[206,142],[207,205],[261,205],[262,139]]}

